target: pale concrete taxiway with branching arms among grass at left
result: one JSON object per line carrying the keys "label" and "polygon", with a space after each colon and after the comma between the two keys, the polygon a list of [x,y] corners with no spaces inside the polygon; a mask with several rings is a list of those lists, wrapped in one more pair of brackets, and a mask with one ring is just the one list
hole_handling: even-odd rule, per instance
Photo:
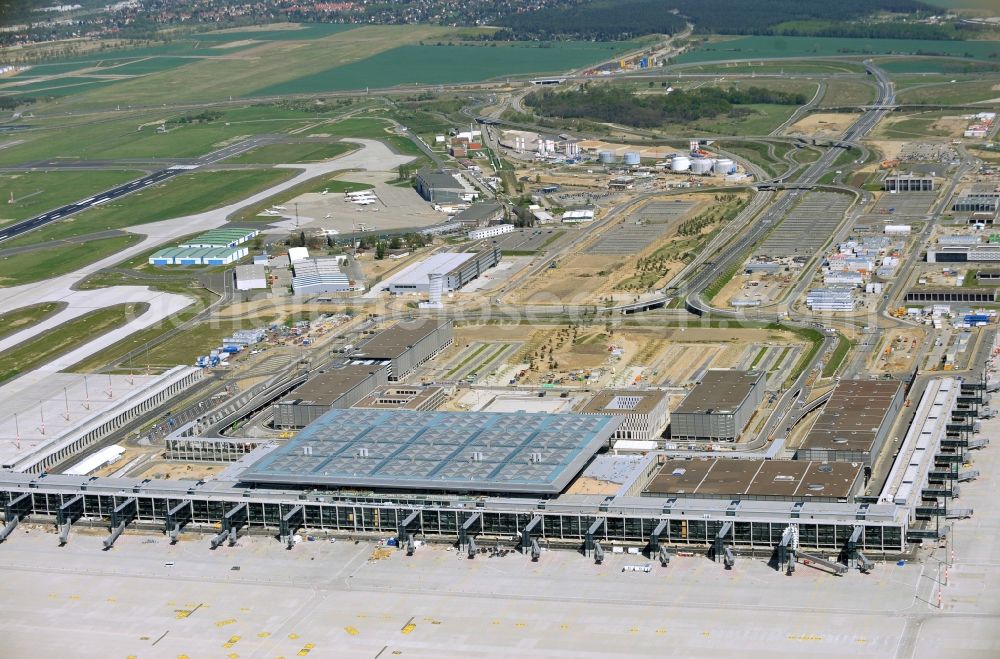
{"label": "pale concrete taxiway with branching arms among grass at left", "polygon": [[[363,148],[346,154],[340,158],[335,158],[322,163],[303,165],[278,165],[290,169],[301,170],[291,179],[279,183],[267,190],[258,192],[237,203],[223,206],[215,210],[196,215],[188,215],[163,222],[155,222],[142,226],[131,227],[131,233],[145,236],[145,239],[121,252],[109,256],[79,270],[66,275],[54,277],[42,282],[14,286],[0,289],[0,313],[12,311],[39,302],[61,301],[66,303],[66,307],[59,313],[48,318],[45,322],[27,327],[16,334],[12,334],[0,341],[0,351],[25,341],[33,336],[61,325],[76,316],[84,314],[94,309],[108,307],[123,302],[145,302],[148,303],[149,310],[130,321],[126,325],[108,332],[100,337],[95,337],[93,341],[86,343],[73,352],[64,355],[48,367],[48,370],[59,370],[67,368],[90,355],[103,350],[109,345],[116,343],[141,329],[167,318],[180,309],[192,303],[191,298],[184,295],[172,293],[162,293],[151,290],[146,286],[114,286],[93,291],[74,290],[73,286],[88,277],[89,275],[120,263],[136,254],[141,254],[157,245],[161,245],[181,236],[204,231],[222,226],[226,223],[226,217],[240,208],[255,204],[267,199],[283,190],[287,190],[308,179],[322,176],[342,169],[365,169],[374,167],[377,169],[392,169],[402,163],[411,160],[409,156],[400,156],[393,153],[385,144],[374,140],[351,140],[363,145]],[[194,272],[194,271],[192,271]]]}

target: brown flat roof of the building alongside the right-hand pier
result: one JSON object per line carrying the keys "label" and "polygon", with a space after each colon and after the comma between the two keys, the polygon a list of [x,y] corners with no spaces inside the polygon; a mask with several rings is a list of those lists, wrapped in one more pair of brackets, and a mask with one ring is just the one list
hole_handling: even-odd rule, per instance
{"label": "brown flat roof of the building alongside the right-hand pier", "polygon": [[892,423],[886,417],[902,386],[895,380],[841,380],[802,448],[871,451],[882,424]]}

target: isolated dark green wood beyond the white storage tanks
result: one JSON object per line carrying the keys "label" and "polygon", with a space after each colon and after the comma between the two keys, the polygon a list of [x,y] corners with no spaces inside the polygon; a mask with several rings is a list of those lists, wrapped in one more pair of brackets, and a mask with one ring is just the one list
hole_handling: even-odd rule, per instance
{"label": "isolated dark green wood beyond the white storage tanks", "polygon": [[690,122],[720,114],[740,116],[754,103],[802,105],[804,94],[773,91],[761,87],[719,89],[705,87],[692,91],[674,90],[657,94],[636,94],[627,87],[590,84],[562,92],[546,89],[524,99],[537,113],[563,119],[610,121],[636,128],[655,128],[668,122]]}

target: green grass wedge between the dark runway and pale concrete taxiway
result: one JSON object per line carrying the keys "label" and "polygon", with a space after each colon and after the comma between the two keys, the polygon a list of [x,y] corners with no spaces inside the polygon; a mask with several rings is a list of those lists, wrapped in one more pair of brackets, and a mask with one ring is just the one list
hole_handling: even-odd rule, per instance
{"label": "green grass wedge between the dark runway and pale concrete taxiway", "polygon": [[295,173],[290,169],[249,169],[183,174],[152,189],[133,193],[5,242],[4,247],[34,245],[200,213],[239,201],[289,179]]}

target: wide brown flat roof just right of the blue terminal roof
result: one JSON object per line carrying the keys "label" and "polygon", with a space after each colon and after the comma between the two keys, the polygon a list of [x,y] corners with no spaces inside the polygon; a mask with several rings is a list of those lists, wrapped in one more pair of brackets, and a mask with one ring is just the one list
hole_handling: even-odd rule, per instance
{"label": "wide brown flat roof just right of the blue terminal roof", "polygon": [[668,460],[646,486],[653,496],[846,499],[863,465],[806,460]]}

